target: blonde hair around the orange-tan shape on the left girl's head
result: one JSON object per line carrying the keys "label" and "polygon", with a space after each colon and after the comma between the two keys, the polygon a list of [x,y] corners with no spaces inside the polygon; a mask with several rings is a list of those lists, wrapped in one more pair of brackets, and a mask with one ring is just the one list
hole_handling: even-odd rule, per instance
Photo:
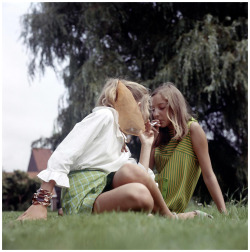
{"label": "blonde hair around the orange-tan shape on the left girl's head", "polygon": [[140,102],[140,110],[142,113],[142,117],[146,122],[149,119],[149,104],[150,104],[150,96],[149,90],[132,81],[127,81],[124,79],[113,79],[110,78],[106,81],[102,92],[96,102],[96,106],[106,106],[112,107],[116,100],[116,89],[118,85],[118,81],[121,81],[132,93],[133,97],[135,98],[136,102]]}

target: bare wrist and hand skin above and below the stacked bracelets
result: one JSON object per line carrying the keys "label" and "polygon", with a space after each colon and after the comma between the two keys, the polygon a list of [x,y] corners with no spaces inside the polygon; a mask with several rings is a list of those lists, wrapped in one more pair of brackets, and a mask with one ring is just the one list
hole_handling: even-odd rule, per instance
{"label": "bare wrist and hand skin above and below the stacked bracelets", "polygon": [[[49,192],[53,191],[55,181],[50,180],[49,182],[43,182],[41,188]],[[17,220],[36,220],[36,219],[47,219],[47,207],[43,205],[31,205]]]}

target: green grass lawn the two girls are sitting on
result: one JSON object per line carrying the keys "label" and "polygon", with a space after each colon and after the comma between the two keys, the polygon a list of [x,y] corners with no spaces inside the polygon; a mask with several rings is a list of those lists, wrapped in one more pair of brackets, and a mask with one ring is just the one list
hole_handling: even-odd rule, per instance
{"label": "green grass lawn the two girls are sitting on", "polygon": [[228,215],[215,206],[200,209],[214,219],[169,220],[143,213],[105,213],[15,221],[21,212],[2,213],[4,250],[238,250],[248,249],[248,208],[228,204]]}

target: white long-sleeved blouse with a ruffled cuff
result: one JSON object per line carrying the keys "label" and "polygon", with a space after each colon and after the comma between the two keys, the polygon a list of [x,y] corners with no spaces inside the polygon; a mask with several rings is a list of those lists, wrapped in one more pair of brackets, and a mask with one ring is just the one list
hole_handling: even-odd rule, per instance
{"label": "white long-sleeved blouse with a ruffled cuff", "polygon": [[[47,169],[37,176],[45,182],[54,180],[59,187],[69,187],[70,171],[98,169],[110,173],[126,163],[136,164],[128,147],[128,152],[121,151],[125,140],[119,129],[118,112],[110,107],[96,107],[75,125],[51,155]],[[151,170],[149,173],[152,176]]]}

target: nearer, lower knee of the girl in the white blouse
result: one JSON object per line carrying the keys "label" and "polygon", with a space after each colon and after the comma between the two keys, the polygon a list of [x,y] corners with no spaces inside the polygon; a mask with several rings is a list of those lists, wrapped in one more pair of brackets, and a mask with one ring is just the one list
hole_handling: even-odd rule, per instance
{"label": "nearer, lower knee of the girl in the white blouse", "polygon": [[154,200],[148,188],[140,183],[135,183],[130,198],[135,202],[138,210],[151,212],[154,207]]}

